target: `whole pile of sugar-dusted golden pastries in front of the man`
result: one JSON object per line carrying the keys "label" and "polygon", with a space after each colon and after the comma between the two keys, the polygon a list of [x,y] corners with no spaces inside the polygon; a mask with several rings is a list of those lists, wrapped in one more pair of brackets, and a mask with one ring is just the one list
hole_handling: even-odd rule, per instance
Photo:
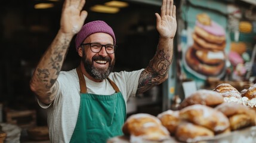
{"label": "whole pile of sugar-dusted golden pastries in front of the man", "polygon": [[255,126],[254,110],[240,102],[227,100],[237,98],[242,101],[243,97],[251,100],[255,98],[255,87],[242,94],[226,83],[213,90],[199,89],[181,102],[179,110],[167,110],[158,116],[134,114],[128,117],[122,130],[130,136],[130,142],[165,142],[169,139],[198,142]]}

